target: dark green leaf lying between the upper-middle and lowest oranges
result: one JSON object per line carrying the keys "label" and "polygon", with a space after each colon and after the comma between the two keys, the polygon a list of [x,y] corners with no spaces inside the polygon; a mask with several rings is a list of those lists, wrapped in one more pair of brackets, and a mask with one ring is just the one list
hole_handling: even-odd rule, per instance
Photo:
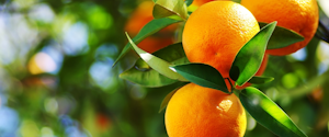
{"label": "dark green leaf lying between the upper-middle and lowest oranges", "polygon": [[212,66],[205,64],[185,64],[171,68],[193,83],[229,93],[224,78]]}

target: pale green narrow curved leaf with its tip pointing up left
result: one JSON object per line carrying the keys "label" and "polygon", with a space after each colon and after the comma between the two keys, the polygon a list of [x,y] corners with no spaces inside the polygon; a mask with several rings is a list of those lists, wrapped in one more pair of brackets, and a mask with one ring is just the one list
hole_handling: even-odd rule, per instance
{"label": "pale green narrow curved leaf with its tip pointing up left", "polygon": [[181,75],[172,71],[169,66],[172,66],[168,61],[162,60],[161,58],[158,58],[149,53],[146,53],[145,50],[140,49],[135,45],[135,43],[131,39],[129,35],[126,33],[126,36],[132,44],[135,52],[140,56],[140,58],[146,61],[152,69],[158,71],[159,73],[173,79],[173,80],[180,80],[180,81],[188,81],[184,77]]}

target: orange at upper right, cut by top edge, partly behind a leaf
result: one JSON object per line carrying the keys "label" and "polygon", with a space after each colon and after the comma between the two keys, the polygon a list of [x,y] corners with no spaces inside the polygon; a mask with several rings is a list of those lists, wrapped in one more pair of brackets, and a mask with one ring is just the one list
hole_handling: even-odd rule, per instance
{"label": "orange at upper right, cut by top edge, partly behind a leaf", "polygon": [[259,22],[277,21],[277,25],[303,35],[305,39],[284,48],[269,49],[270,55],[284,56],[305,47],[315,35],[318,21],[316,0],[241,0]]}

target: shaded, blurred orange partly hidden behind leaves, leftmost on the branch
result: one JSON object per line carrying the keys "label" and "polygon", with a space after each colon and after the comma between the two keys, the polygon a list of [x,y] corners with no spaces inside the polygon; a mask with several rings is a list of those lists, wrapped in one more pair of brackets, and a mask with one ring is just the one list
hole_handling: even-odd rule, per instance
{"label": "shaded, blurred orange partly hidden behind leaves, leftmost on the branch", "polygon": [[[144,1],[141,2],[137,9],[129,16],[125,31],[131,35],[135,36],[138,32],[146,25],[148,22],[154,20],[152,16],[152,1]],[[137,46],[145,52],[155,53],[170,44],[173,44],[173,33],[177,28],[177,25],[170,25],[159,31],[155,35],[151,35],[144,41],[141,41]]]}

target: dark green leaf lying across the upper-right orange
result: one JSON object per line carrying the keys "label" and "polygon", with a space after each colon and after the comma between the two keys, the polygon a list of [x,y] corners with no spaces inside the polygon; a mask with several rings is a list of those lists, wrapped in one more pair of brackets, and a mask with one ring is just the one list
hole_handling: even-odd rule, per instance
{"label": "dark green leaf lying across the upper-right orange", "polygon": [[[259,25],[261,27],[265,26],[266,24],[268,23],[259,22]],[[268,49],[283,48],[302,41],[304,41],[304,36],[302,36],[300,34],[292,30],[287,30],[285,27],[276,26],[275,31],[273,32],[269,41],[266,48]]]}

